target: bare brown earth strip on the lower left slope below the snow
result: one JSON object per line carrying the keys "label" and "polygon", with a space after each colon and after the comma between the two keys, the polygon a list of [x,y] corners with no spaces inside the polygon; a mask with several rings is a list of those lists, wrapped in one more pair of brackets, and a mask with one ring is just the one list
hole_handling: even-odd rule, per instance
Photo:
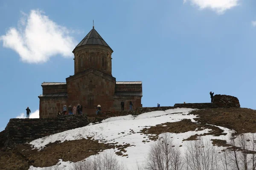
{"label": "bare brown earth strip on the lower left slope below the snow", "polygon": [[32,149],[29,144],[19,144],[14,148],[1,149],[0,170],[25,170],[31,165],[49,167],[55,165],[59,159],[76,162],[111,148],[116,148],[116,154],[123,156],[122,152],[125,153],[125,148],[130,146],[132,145],[104,144],[93,139],[55,142],[48,144],[43,150]]}

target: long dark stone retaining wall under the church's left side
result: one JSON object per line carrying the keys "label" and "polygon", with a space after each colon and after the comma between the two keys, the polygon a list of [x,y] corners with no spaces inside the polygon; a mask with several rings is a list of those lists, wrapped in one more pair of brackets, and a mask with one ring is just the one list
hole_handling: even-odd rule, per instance
{"label": "long dark stone retaining wall under the church's left side", "polygon": [[5,128],[5,145],[34,139],[88,125],[85,115],[58,115],[49,119],[10,119]]}

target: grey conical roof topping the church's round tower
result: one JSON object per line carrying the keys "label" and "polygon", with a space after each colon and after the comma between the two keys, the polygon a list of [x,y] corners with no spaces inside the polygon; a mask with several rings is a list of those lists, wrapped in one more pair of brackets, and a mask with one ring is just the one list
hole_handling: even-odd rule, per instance
{"label": "grey conical roof topping the church's round tower", "polygon": [[78,45],[76,45],[76,47],[80,47],[82,45],[103,45],[110,48],[107,42],[105,42],[99,33],[94,29],[94,26],[93,29],[84,37],[84,39],[81,40]]}

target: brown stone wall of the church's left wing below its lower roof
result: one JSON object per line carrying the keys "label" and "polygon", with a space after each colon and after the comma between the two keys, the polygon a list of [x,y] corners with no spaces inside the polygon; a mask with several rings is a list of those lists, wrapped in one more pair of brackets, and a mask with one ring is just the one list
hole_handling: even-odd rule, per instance
{"label": "brown stone wall of the church's left wing below its lower roof", "polygon": [[63,106],[67,105],[67,96],[61,97],[41,97],[39,104],[39,117],[57,117],[58,111],[63,111]]}

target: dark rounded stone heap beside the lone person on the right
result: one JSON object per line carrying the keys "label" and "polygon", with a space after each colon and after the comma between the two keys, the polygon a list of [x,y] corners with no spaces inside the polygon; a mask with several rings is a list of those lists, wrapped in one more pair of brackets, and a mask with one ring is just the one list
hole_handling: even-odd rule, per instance
{"label": "dark rounded stone heap beside the lone person on the right", "polygon": [[213,103],[220,108],[240,108],[239,100],[234,96],[216,94]]}

